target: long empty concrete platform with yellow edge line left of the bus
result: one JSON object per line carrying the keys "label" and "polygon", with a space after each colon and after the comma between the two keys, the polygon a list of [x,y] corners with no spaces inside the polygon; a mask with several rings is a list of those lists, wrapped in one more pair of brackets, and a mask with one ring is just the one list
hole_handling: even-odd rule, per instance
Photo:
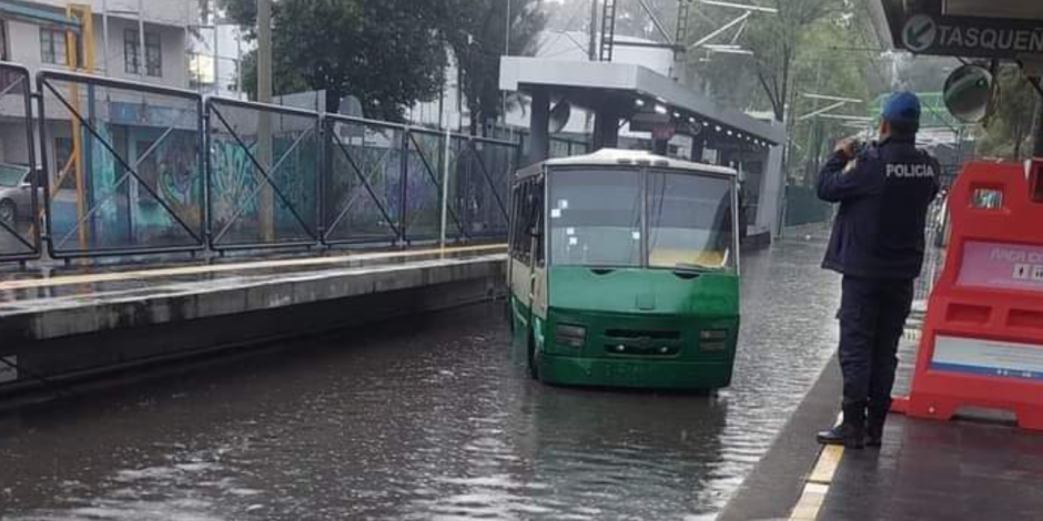
{"label": "long empty concrete platform with yellow edge line left of the bus", "polygon": [[488,299],[504,252],[0,273],[0,396]]}

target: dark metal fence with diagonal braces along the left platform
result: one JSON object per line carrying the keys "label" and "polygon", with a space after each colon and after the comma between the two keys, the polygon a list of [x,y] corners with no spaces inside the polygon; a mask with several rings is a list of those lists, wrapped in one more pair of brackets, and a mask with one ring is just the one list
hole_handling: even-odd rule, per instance
{"label": "dark metal fence with diagonal braces along the left platform", "polygon": [[31,84],[0,63],[0,260],[404,245],[439,238],[443,208],[450,241],[507,235],[520,141],[60,71]]}

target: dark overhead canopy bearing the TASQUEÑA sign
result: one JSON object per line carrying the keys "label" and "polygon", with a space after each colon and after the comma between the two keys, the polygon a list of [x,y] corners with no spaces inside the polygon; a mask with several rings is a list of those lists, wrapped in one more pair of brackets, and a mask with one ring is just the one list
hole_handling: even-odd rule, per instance
{"label": "dark overhead canopy bearing the TASQUE\u00d1A sign", "polygon": [[920,54],[1043,63],[1043,0],[872,0],[881,41]]}

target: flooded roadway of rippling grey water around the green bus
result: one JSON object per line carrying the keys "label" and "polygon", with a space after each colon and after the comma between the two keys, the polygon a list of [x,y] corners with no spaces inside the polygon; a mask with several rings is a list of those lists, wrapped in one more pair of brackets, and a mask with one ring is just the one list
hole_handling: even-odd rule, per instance
{"label": "flooded roadway of rippling grey water around the green bus", "polygon": [[716,396],[540,386],[477,306],[4,417],[0,519],[709,520],[834,349],[822,247],[746,256]]}

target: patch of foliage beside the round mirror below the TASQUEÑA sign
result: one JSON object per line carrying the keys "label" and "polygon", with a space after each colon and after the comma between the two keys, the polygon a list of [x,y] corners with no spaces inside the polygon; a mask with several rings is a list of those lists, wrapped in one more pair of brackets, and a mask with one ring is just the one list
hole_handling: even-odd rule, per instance
{"label": "patch of foliage beside the round mirror below the TASQUE\u00d1A sign", "polygon": [[1039,94],[1016,67],[1000,71],[998,82],[1000,103],[985,126],[978,152],[988,157],[1021,161],[1032,152]]}

